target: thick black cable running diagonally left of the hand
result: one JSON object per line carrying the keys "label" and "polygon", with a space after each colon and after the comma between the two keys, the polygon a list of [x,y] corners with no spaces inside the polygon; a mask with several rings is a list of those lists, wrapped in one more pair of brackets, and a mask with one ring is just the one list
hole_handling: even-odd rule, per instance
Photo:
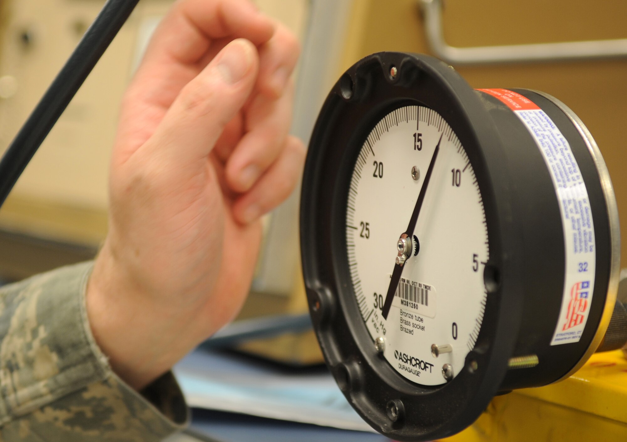
{"label": "thick black cable running diagonally left of the hand", "polygon": [[0,161],[0,206],[139,0],[108,0]]}

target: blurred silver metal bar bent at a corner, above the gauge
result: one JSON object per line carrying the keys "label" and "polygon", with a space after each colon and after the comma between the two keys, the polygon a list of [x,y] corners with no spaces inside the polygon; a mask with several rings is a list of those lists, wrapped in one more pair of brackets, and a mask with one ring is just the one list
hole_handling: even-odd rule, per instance
{"label": "blurred silver metal bar bent at a corner, above the gauge", "polygon": [[451,64],[528,63],[627,57],[627,39],[458,48],[444,39],[443,0],[418,0],[429,49]]}

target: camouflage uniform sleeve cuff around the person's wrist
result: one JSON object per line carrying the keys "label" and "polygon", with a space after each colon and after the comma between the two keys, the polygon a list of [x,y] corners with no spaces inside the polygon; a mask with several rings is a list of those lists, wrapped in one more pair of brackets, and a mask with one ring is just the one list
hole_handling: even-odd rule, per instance
{"label": "camouflage uniform sleeve cuff around the person's wrist", "polygon": [[159,441],[188,411],[167,373],[137,393],[87,322],[92,263],[0,289],[0,441]]}

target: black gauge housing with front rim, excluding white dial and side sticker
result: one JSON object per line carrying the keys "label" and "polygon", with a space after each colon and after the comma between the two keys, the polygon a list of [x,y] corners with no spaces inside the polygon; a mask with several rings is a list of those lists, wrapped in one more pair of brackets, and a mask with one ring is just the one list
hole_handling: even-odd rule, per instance
{"label": "black gauge housing with front rim, excluding white dial and side sticker", "polygon": [[[461,431],[495,394],[569,376],[596,350],[608,327],[618,287],[619,234],[603,159],[585,126],[561,102],[536,91],[514,91],[558,126],[589,194],[596,283],[579,342],[551,345],[564,292],[562,219],[539,148],[508,106],[473,90],[438,59],[387,52],[348,69],[320,111],[300,208],[308,305],[339,388],[362,418],[390,438],[426,441]],[[406,105],[437,111],[460,139],[477,176],[490,249],[483,275],[488,297],[477,343],[460,373],[435,387],[403,378],[376,351],[347,265],[344,216],[357,155],[373,126]],[[509,368],[512,357],[527,355],[537,355],[537,366]]]}

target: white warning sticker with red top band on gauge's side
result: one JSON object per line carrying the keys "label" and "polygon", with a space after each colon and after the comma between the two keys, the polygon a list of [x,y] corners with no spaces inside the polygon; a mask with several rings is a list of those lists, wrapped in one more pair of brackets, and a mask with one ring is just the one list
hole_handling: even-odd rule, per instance
{"label": "white warning sticker with red top band on gauge's side", "polygon": [[586,184],[571,146],[546,113],[525,96],[505,89],[481,89],[505,103],[537,143],[556,190],[566,246],[562,307],[551,345],[579,342],[594,292],[596,247]]}

